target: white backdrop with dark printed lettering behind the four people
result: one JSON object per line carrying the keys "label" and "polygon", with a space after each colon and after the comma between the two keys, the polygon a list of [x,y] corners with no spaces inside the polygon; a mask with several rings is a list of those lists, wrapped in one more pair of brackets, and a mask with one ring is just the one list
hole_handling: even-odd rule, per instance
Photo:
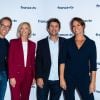
{"label": "white backdrop with dark printed lettering behind the four people", "polygon": [[[60,36],[70,38],[69,22],[73,17],[81,17],[86,22],[85,34],[97,46],[97,82],[95,100],[100,100],[100,0],[0,0],[0,18],[9,16],[13,26],[7,39],[16,38],[19,23],[28,21],[32,26],[31,40],[37,42],[48,35],[46,21],[56,17],[61,21]],[[84,91],[85,92],[85,91]],[[5,100],[10,99],[9,84]],[[31,89],[30,100],[36,100],[36,87]],[[63,100],[63,96],[61,96]],[[76,100],[80,100],[76,92]]]}

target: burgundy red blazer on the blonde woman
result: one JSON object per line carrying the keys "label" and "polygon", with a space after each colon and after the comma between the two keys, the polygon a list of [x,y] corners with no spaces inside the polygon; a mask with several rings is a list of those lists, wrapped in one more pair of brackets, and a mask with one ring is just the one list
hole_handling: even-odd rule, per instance
{"label": "burgundy red blazer on the blonde woman", "polygon": [[24,69],[31,77],[35,77],[35,48],[35,43],[28,40],[28,52],[25,67],[21,39],[12,39],[10,41],[8,55],[9,78],[21,77],[24,73]]}

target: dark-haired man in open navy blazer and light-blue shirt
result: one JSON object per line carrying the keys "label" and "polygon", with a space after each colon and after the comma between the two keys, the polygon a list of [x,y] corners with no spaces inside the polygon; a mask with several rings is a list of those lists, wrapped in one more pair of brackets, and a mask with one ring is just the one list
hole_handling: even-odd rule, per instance
{"label": "dark-haired man in open navy blazer and light-blue shirt", "polygon": [[36,53],[37,100],[59,100],[59,58],[64,38],[58,36],[60,22],[51,18],[47,22],[49,36],[38,41]]}

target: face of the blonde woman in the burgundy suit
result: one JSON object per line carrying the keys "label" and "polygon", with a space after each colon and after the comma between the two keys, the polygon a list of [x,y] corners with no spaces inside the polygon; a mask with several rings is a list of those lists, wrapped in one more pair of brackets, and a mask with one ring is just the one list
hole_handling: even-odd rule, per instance
{"label": "face of the blonde woman in the burgundy suit", "polygon": [[30,28],[27,24],[23,24],[20,29],[20,36],[28,38],[30,34]]}

